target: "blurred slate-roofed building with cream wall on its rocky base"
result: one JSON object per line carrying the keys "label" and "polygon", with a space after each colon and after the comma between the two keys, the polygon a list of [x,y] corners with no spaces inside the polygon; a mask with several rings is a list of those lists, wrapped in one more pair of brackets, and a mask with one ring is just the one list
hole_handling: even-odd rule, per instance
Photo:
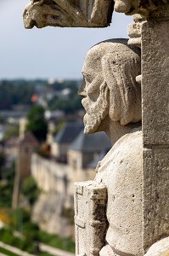
{"label": "blurred slate-roofed building with cream wall on its rocky base", "polygon": [[74,183],[95,177],[95,167],[110,149],[110,139],[104,132],[84,134],[81,123],[67,123],[51,146],[51,160],[37,154],[31,158],[31,174],[42,191],[32,219],[49,233],[74,236]]}

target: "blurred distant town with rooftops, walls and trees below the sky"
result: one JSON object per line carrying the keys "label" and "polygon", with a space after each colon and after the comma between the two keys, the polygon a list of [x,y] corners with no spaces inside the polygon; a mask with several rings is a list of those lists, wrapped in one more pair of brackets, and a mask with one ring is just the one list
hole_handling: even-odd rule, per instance
{"label": "blurred distant town with rooftops, walls and trees below the sky", "polygon": [[83,132],[81,83],[0,80],[0,241],[20,252],[75,253],[74,183],[93,179],[110,149],[104,132]]}

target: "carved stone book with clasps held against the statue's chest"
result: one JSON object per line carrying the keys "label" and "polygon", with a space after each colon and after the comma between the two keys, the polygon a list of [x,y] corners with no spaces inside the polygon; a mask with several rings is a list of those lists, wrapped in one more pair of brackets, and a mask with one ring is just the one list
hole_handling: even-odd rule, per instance
{"label": "carved stone book with clasps held against the statue's chest", "polygon": [[107,189],[94,181],[75,184],[76,255],[99,256],[104,246]]}

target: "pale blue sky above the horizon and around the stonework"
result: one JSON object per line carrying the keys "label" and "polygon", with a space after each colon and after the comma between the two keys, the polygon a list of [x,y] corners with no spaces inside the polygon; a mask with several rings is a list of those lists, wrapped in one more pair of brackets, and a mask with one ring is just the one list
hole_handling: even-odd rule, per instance
{"label": "pale blue sky above the horizon and around the stonework", "polygon": [[84,56],[93,44],[127,38],[132,17],[113,15],[108,28],[45,27],[25,30],[29,0],[0,0],[0,79],[81,79]]}

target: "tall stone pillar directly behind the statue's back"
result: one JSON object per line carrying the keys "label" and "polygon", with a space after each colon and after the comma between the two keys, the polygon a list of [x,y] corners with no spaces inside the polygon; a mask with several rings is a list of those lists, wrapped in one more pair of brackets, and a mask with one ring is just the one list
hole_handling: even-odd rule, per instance
{"label": "tall stone pillar directly behind the statue's back", "polygon": [[142,26],[144,249],[169,236],[169,5]]}

